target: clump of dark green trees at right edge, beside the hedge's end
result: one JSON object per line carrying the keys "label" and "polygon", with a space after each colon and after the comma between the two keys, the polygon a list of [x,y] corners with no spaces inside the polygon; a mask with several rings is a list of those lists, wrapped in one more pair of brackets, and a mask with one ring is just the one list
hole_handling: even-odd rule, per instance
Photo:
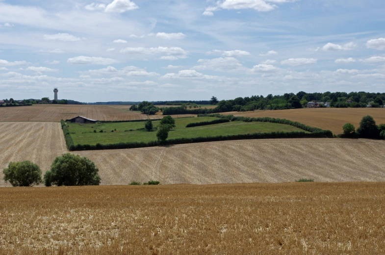
{"label": "clump of dark green trees at right edge, beside the hedge's end", "polygon": [[369,115],[362,117],[357,131],[351,123],[345,124],[342,128],[343,135],[340,135],[340,137],[385,139],[385,124],[377,126],[376,121]]}

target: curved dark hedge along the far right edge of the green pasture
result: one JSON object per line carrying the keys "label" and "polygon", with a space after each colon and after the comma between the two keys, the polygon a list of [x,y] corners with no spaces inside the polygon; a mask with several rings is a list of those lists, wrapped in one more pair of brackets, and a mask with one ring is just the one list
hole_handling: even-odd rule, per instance
{"label": "curved dark hedge along the far right edge of the green pasture", "polygon": [[321,132],[327,137],[333,138],[333,132],[330,130],[324,130],[321,128],[313,128],[306,126],[305,124],[295,122],[295,121],[290,121],[286,119],[275,119],[275,118],[270,118],[270,117],[259,117],[259,118],[249,118],[249,117],[236,117],[233,115],[222,115],[222,114],[199,114],[198,117],[216,117],[216,118],[221,118],[221,119],[227,119],[230,121],[243,121],[243,122],[270,122],[270,123],[278,123],[278,124],[285,124],[285,125],[290,125],[296,128],[301,128],[305,131],[314,133],[314,132]]}

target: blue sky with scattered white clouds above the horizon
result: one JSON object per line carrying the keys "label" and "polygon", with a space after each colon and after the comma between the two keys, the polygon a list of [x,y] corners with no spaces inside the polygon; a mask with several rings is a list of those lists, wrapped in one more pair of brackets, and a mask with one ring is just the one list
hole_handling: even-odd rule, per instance
{"label": "blue sky with scattered white clouds above the horizon", "polygon": [[385,91],[384,0],[0,0],[0,99]]}

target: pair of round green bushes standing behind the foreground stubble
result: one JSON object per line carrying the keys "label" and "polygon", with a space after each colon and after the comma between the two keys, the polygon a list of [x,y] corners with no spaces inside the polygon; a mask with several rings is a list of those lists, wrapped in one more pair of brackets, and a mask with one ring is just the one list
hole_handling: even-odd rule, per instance
{"label": "pair of round green bushes standing behind the foreground stubble", "polygon": [[56,157],[44,178],[40,167],[30,161],[10,162],[3,170],[4,181],[14,187],[39,185],[43,180],[46,186],[99,185],[98,172],[90,159],[71,153]]}

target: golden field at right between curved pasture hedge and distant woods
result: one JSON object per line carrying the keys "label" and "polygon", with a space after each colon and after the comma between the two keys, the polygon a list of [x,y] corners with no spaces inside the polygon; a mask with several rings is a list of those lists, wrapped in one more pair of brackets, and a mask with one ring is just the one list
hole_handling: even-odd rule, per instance
{"label": "golden field at right between curved pasture hedge and distant woods", "polygon": [[342,126],[352,123],[356,128],[365,115],[372,116],[377,124],[385,124],[384,108],[303,108],[275,111],[227,112],[225,115],[245,117],[272,117],[298,121],[311,127],[329,129],[334,134],[342,133]]}

